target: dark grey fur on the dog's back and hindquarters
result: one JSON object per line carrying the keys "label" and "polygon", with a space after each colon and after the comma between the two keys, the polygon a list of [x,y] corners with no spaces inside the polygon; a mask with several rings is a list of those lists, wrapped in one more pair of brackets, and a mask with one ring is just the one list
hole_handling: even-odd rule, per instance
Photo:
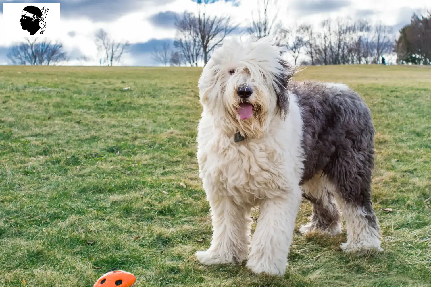
{"label": "dark grey fur on the dog's back and hindquarters", "polygon": [[[304,123],[301,184],[321,173],[336,186],[340,198],[361,207],[368,224],[380,231],[371,202],[374,127],[369,108],[357,93],[340,84],[292,82],[290,91],[297,95]],[[320,225],[340,221],[337,210],[322,206],[312,194],[303,196],[313,204]]]}

